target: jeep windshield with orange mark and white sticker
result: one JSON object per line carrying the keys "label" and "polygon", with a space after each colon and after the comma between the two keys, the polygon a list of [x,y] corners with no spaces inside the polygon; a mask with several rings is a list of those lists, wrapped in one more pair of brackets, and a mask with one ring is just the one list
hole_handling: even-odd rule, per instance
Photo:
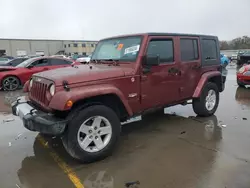
{"label": "jeep windshield with orange mark and white sticker", "polygon": [[100,41],[92,54],[92,60],[136,61],[142,37],[123,37]]}

